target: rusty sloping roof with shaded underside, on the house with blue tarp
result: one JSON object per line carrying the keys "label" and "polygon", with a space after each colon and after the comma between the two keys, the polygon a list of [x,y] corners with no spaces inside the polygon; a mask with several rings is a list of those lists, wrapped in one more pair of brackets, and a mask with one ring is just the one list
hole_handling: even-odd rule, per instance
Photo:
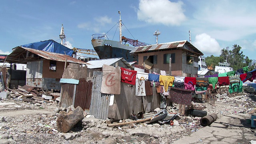
{"label": "rusty sloping roof with shaded underside, on the house with blue tarp", "polygon": [[67,62],[75,63],[75,64],[86,64],[90,65],[86,62],[83,62],[81,60],[78,60],[76,58],[73,58],[71,56],[65,55],[65,54],[59,54],[54,52],[46,52],[42,50],[36,50],[32,48],[25,48],[22,46],[17,46],[13,49],[12,53],[10,53],[6,61],[12,62],[12,63],[20,63],[20,64],[26,64],[27,62],[41,60],[42,58],[33,57],[33,56],[27,56],[27,52],[31,52],[31,54],[36,54],[42,58],[45,58],[46,60],[54,60],[59,62],[65,62],[67,59]]}

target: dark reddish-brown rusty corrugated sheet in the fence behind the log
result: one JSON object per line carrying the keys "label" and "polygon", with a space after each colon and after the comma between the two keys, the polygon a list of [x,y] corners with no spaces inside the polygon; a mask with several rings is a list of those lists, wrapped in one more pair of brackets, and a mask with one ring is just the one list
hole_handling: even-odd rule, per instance
{"label": "dark reddish-brown rusty corrugated sheet in the fence behind the log", "polygon": [[80,106],[83,110],[90,108],[92,97],[92,82],[86,82],[84,78],[79,79],[79,84],[76,87],[76,98],[74,107]]}

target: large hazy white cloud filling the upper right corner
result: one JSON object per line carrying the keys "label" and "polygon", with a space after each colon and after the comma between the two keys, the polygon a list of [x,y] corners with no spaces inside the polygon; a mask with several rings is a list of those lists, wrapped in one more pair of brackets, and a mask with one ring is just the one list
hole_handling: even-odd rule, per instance
{"label": "large hazy white cloud filling the upper right corner", "polygon": [[217,40],[242,39],[256,33],[255,4],[256,1],[197,1],[190,28]]}

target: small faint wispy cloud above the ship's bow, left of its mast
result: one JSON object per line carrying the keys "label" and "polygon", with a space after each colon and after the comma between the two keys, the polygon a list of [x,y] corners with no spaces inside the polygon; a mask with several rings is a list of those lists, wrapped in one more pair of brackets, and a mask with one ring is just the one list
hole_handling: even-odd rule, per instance
{"label": "small faint wispy cloud above the ship's bow, left of its mast", "polygon": [[94,18],[93,24],[91,22],[84,22],[78,24],[78,28],[86,29],[86,30],[92,30],[94,32],[100,32],[101,28],[105,26],[106,24],[111,24],[112,18],[109,18],[108,16],[101,16],[98,18]]}

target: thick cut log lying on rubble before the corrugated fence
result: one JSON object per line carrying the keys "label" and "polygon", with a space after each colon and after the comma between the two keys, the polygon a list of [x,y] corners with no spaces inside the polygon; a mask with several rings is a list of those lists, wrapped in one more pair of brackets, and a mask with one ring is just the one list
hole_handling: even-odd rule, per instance
{"label": "thick cut log lying on rubble before the corrugated fence", "polygon": [[68,132],[74,125],[84,118],[84,110],[78,106],[68,114],[62,114],[57,118],[57,129],[60,132]]}

